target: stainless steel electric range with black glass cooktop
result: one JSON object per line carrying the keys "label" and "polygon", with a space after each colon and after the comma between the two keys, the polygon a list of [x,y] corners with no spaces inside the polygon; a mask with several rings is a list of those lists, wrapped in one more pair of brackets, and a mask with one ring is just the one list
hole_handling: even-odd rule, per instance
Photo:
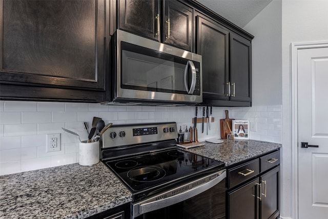
{"label": "stainless steel electric range with black glass cooktop", "polygon": [[224,163],[176,147],[176,123],[113,125],[101,161],[132,192],[131,218],[224,218]]}

